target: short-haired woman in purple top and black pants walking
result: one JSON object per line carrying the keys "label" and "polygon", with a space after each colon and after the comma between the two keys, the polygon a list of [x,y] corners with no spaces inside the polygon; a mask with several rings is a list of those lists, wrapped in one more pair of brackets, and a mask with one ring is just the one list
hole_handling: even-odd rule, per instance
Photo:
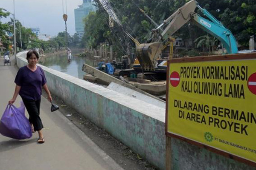
{"label": "short-haired woman in purple top and black pants walking", "polygon": [[38,143],[44,143],[44,135],[42,133],[44,126],[39,116],[42,87],[47,92],[50,102],[52,102],[52,97],[46,84],[44,71],[36,65],[39,59],[38,52],[30,50],[26,54],[26,59],[29,64],[21,67],[17,72],[15,77],[15,92],[9,104],[12,105],[17,95],[20,94],[29,113],[29,122],[31,123],[32,131],[38,131]]}

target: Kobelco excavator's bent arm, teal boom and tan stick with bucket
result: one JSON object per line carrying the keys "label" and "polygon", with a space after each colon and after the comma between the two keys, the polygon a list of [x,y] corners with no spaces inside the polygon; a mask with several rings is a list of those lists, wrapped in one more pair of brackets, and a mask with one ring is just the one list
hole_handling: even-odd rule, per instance
{"label": "Kobelco excavator's bent arm, teal boom and tan stick with bucket", "polygon": [[[196,8],[209,20],[197,14],[195,12]],[[160,54],[168,44],[173,43],[174,38],[172,35],[189,21],[216,37],[227,49],[227,54],[237,53],[236,39],[230,30],[223,26],[206,9],[201,8],[197,1],[191,0],[164,20],[160,26],[151,30],[151,37],[147,43],[137,45],[136,56],[138,62],[134,63],[134,70],[144,73],[166,73],[167,62],[160,58]]]}

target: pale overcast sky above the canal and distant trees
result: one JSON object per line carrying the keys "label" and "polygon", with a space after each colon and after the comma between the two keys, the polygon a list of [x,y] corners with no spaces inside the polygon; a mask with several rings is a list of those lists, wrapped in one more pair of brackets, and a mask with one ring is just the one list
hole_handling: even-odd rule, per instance
{"label": "pale overcast sky above the canal and distant trees", "polygon": [[[15,0],[15,17],[27,28],[38,27],[42,34],[56,36],[65,31],[62,1],[65,12],[66,0]],[[82,0],[67,0],[67,31],[70,35],[75,33],[74,9],[82,3]],[[13,13],[13,0],[0,0],[0,8]],[[3,23],[8,21],[10,18],[1,19]]]}

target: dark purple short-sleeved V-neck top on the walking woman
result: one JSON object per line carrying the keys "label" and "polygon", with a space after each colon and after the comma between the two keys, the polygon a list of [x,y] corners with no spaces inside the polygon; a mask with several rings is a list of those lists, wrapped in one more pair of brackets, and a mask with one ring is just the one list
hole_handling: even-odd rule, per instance
{"label": "dark purple short-sleeved V-neck top on the walking woman", "polygon": [[16,85],[21,86],[20,96],[25,99],[41,99],[42,86],[46,83],[44,71],[37,66],[33,72],[27,66],[21,67],[15,77]]}

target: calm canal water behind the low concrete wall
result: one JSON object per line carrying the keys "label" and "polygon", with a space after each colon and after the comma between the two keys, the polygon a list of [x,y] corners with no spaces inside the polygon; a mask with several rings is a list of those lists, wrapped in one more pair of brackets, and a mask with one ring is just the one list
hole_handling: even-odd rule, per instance
{"label": "calm canal water behind the low concrete wall", "polygon": [[[73,54],[79,54],[79,50],[72,51]],[[44,65],[48,68],[52,68],[57,71],[69,74],[73,77],[78,77],[83,79],[84,71],[82,71],[83,64],[86,63],[93,67],[96,67],[96,62],[93,62],[93,59],[87,57],[74,57],[70,62],[67,61],[67,54],[52,54],[52,56],[45,57],[39,64]]]}

